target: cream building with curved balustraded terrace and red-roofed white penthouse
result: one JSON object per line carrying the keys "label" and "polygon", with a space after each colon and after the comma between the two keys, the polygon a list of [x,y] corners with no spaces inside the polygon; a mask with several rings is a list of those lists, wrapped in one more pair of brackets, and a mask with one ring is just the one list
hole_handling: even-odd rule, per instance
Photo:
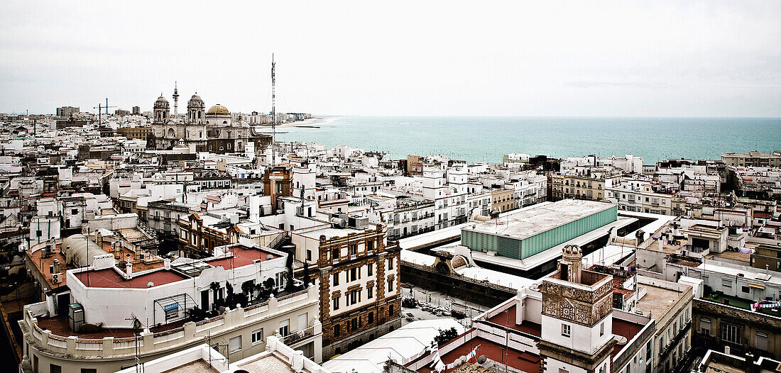
{"label": "cream building with curved balustraded terrace and red-roofed white penthouse", "polygon": [[[77,247],[64,250],[68,257]],[[68,270],[65,298],[28,304],[19,321],[33,371],[111,373],[202,343],[235,362],[262,352],[266,336],[277,333],[321,361],[317,287],[281,291],[288,281],[283,252],[243,245],[219,252],[152,269],[104,252]],[[276,297],[255,286],[269,281]],[[243,300],[234,297],[239,293]],[[231,299],[237,304],[226,303]]]}

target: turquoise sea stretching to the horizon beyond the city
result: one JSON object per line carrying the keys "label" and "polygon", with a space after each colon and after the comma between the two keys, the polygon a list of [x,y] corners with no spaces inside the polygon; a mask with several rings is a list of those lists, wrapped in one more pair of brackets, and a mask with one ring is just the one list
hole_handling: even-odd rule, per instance
{"label": "turquoise sea stretching to the horizon beyond the city", "polygon": [[632,154],[719,159],[722,152],[781,150],[781,118],[577,118],[348,116],[320,128],[279,129],[277,140],[348,145],[406,155],[447,155],[501,163],[505,153],[569,156]]}

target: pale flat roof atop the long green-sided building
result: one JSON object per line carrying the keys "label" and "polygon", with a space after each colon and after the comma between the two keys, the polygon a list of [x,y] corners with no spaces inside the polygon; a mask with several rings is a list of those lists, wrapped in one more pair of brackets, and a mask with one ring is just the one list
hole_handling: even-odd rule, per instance
{"label": "pale flat roof atop the long green-sided building", "polygon": [[533,206],[503,218],[469,225],[464,227],[463,230],[511,236],[517,240],[523,240],[610,208],[615,208],[615,204],[584,200],[562,200],[552,204]]}

